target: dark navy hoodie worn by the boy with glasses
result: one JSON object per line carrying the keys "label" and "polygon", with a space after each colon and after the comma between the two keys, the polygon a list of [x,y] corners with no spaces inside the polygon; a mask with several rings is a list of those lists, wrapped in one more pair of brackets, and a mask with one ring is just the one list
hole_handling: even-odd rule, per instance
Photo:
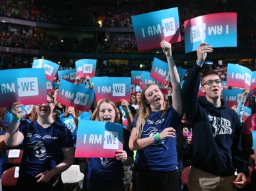
{"label": "dark navy hoodie worn by the boy with glasses", "polygon": [[182,86],[184,111],[193,127],[191,164],[216,176],[230,176],[236,170],[248,176],[238,114],[223,100],[221,107],[215,107],[198,97],[201,70],[198,65],[191,67]]}

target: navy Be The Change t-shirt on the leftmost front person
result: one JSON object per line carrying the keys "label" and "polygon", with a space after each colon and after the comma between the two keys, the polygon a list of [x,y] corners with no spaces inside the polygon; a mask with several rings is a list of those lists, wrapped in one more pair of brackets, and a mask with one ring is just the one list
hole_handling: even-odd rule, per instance
{"label": "navy Be The Change t-shirt on the leftmost front person", "polygon": [[20,163],[19,177],[35,177],[51,170],[63,160],[62,148],[73,147],[68,128],[59,122],[43,128],[37,121],[20,125],[24,135],[24,152]]}

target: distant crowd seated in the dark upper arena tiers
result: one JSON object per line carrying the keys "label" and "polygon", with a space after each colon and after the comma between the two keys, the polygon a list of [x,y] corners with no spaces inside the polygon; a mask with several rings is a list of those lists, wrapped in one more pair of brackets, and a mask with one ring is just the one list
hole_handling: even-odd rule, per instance
{"label": "distant crowd seated in the dark upper arena tiers", "polygon": [[[54,24],[72,24],[88,27],[99,27],[98,20],[102,20],[102,27],[132,27],[131,17],[137,14],[164,10],[170,7],[179,7],[180,27],[184,33],[184,21],[203,14],[216,12],[238,12],[238,48],[237,51],[255,50],[255,34],[244,33],[242,28],[250,26],[255,22],[256,16],[253,12],[253,1],[246,1],[240,5],[239,1],[203,1],[200,3],[190,1],[107,1],[104,7],[101,1],[87,2],[72,1],[1,1],[0,15],[36,22],[49,22]],[[203,5],[201,5],[203,3]],[[70,5],[72,4],[72,5]],[[79,4],[79,6],[74,6]],[[107,7],[106,7],[107,6]],[[202,7],[208,7],[207,12]],[[58,12],[55,8],[58,7]],[[70,7],[74,7],[70,9]],[[218,7],[218,10],[216,10]],[[83,11],[83,10],[86,10]],[[248,14],[250,13],[250,14]],[[82,15],[81,15],[82,14]],[[35,19],[36,18],[36,19]],[[124,24],[125,23],[125,24]],[[248,24],[246,24],[248,23]],[[241,26],[240,26],[241,24]],[[134,35],[130,37],[109,37],[102,41],[99,37],[81,39],[78,37],[63,37],[36,34],[29,29],[18,29],[16,31],[1,30],[1,46],[15,48],[29,48],[35,50],[52,50],[65,52],[96,52],[96,53],[122,53],[122,54],[152,54],[159,50],[137,51],[137,43]],[[184,42],[173,44],[175,54],[184,54]],[[234,48],[216,49],[216,52],[233,52]]]}

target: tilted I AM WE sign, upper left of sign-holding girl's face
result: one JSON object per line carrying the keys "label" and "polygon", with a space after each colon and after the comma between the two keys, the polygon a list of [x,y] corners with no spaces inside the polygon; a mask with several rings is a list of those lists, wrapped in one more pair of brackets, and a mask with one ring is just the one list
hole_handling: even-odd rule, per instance
{"label": "tilted I AM WE sign, upper left of sign-holding girl's face", "polygon": [[67,107],[89,111],[94,101],[94,90],[61,79],[56,100]]}

